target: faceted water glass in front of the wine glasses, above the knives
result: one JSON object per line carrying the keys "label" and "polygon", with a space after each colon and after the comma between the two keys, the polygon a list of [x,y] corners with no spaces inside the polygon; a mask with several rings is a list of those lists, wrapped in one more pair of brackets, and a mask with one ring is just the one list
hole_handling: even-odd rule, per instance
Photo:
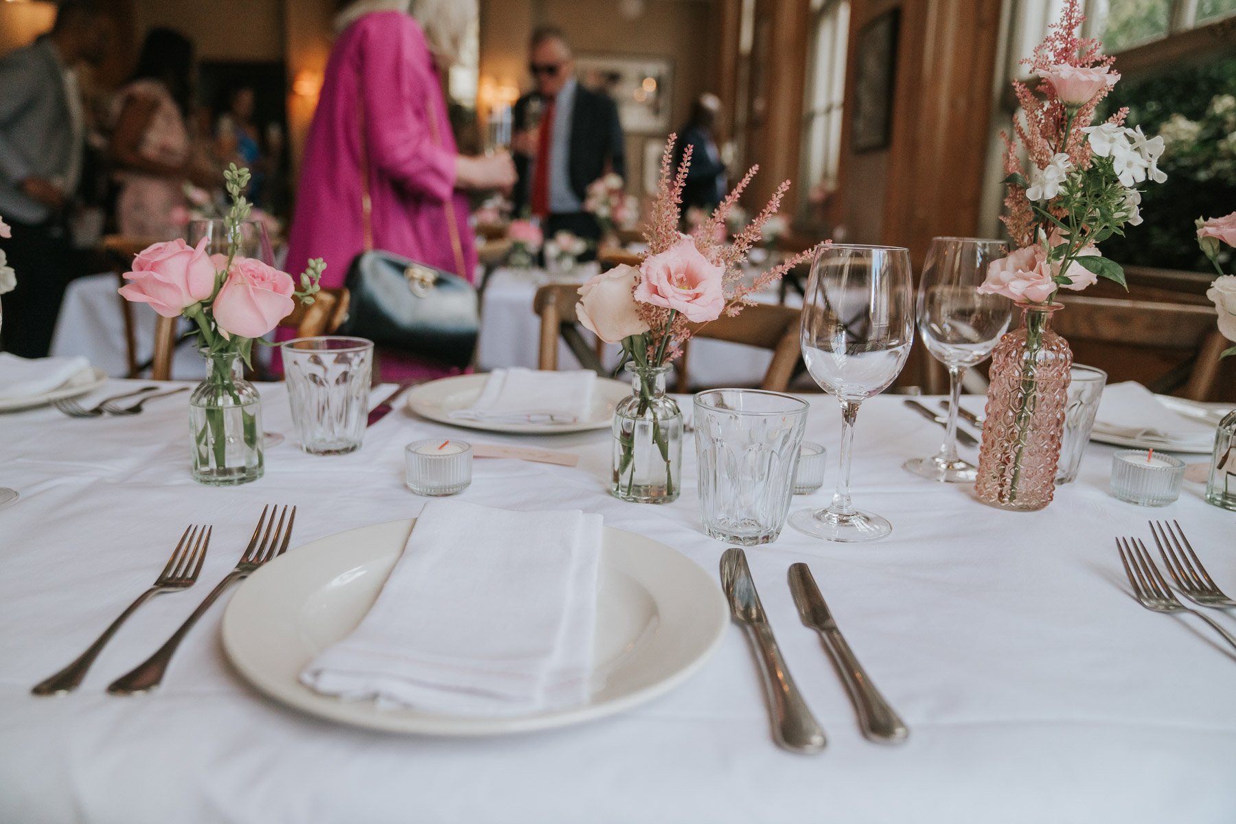
{"label": "faceted water glass in front of the wine glasses, above the knives", "polygon": [[695,397],[700,509],[709,536],[742,546],[777,539],[790,511],[807,409],[800,398],[756,389]]}

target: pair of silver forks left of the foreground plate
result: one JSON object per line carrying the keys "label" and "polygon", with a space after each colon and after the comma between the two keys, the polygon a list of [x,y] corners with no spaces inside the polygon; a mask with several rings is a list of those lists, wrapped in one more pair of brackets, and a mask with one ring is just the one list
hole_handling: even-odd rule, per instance
{"label": "pair of silver forks left of the foreground plate", "polygon": [[[269,518],[267,518],[267,514],[269,514]],[[276,516],[278,516],[278,523],[276,523]],[[279,507],[265,507],[257,526],[253,528],[253,536],[250,539],[248,546],[245,549],[240,561],[237,561],[236,567],[224,576],[222,581],[206,595],[163,646],[132,671],[114,681],[108,687],[108,692],[114,696],[129,696],[148,692],[158,687],[180,641],[184,640],[184,636],[189,634],[189,630],[198,619],[210,608],[210,604],[231,584],[247,578],[260,566],[287,551],[288,542],[292,540],[292,526],[295,519],[295,507],[283,507],[282,509]],[[189,526],[185,529],[180,536],[180,541],[172,550],[172,557],[168,558],[167,566],[163,567],[154,584],[138,595],[75,661],[37,684],[31,692],[36,696],[57,696],[77,689],[99,652],[111,640],[111,636],[116,634],[120,625],[137,612],[138,607],[146,603],[152,595],[188,589],[197,583],[198,573],[201,572],[201,565],[206,558],[206,550],[210,547],[210,526]]]}

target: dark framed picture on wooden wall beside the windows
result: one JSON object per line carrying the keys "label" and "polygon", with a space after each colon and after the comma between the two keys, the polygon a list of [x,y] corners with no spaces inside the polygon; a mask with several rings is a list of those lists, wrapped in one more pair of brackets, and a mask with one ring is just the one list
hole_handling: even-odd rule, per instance
{"label": "dark framed picture on wooden wall beside the windows", "polygon": [[854,121],[850,147],[855,152],[886,148],[892,132],[892,91],[897,70],[897,26],[901,10],[887,11],[858,33],[854,72]]}

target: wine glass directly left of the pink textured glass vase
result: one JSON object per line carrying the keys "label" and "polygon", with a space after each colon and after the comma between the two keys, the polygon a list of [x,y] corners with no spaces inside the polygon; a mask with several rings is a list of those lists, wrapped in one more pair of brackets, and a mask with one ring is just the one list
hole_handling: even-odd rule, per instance
{"label": "wine glass directly left of the pink textured glass vase", "polygon": [[939,452],[902,466],[932,481],[973,483],[978,469],[957,456],[957,414],[962,376],[981,363],[1012,322],[1012,304],[1000,295],[980,295],[988,267],[1009,254],[1004,241],[978,237],[933,237],[918,283],[918,334],[927,351],[948,368],[948,426]]}

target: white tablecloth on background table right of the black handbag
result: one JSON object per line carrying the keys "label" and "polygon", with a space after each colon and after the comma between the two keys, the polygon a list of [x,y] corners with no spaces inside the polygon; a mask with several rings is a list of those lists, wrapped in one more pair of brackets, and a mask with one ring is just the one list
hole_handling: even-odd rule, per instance
{"label": "white tablecloth on background table right of the black handbag", "polygon": [[[540,317],[533,311],[536,289],[550,283],[540,269],[496,269],[489,275],[481,299],[481,338],[477,342],[477,363],[482,369],[523,366],[536,368],[540,351]],[[772,293],[760,295],[775,300]],[[593,342],[591,332],[585,337]],[[559,368],[578,368],[580,362],[559,340]],[[616,363],[618,347],[608,347],[606,363]],[[687,363],[693,387],[759,385],[768,372],[772,353],[768,350],[698,340],[691,342]]]}

